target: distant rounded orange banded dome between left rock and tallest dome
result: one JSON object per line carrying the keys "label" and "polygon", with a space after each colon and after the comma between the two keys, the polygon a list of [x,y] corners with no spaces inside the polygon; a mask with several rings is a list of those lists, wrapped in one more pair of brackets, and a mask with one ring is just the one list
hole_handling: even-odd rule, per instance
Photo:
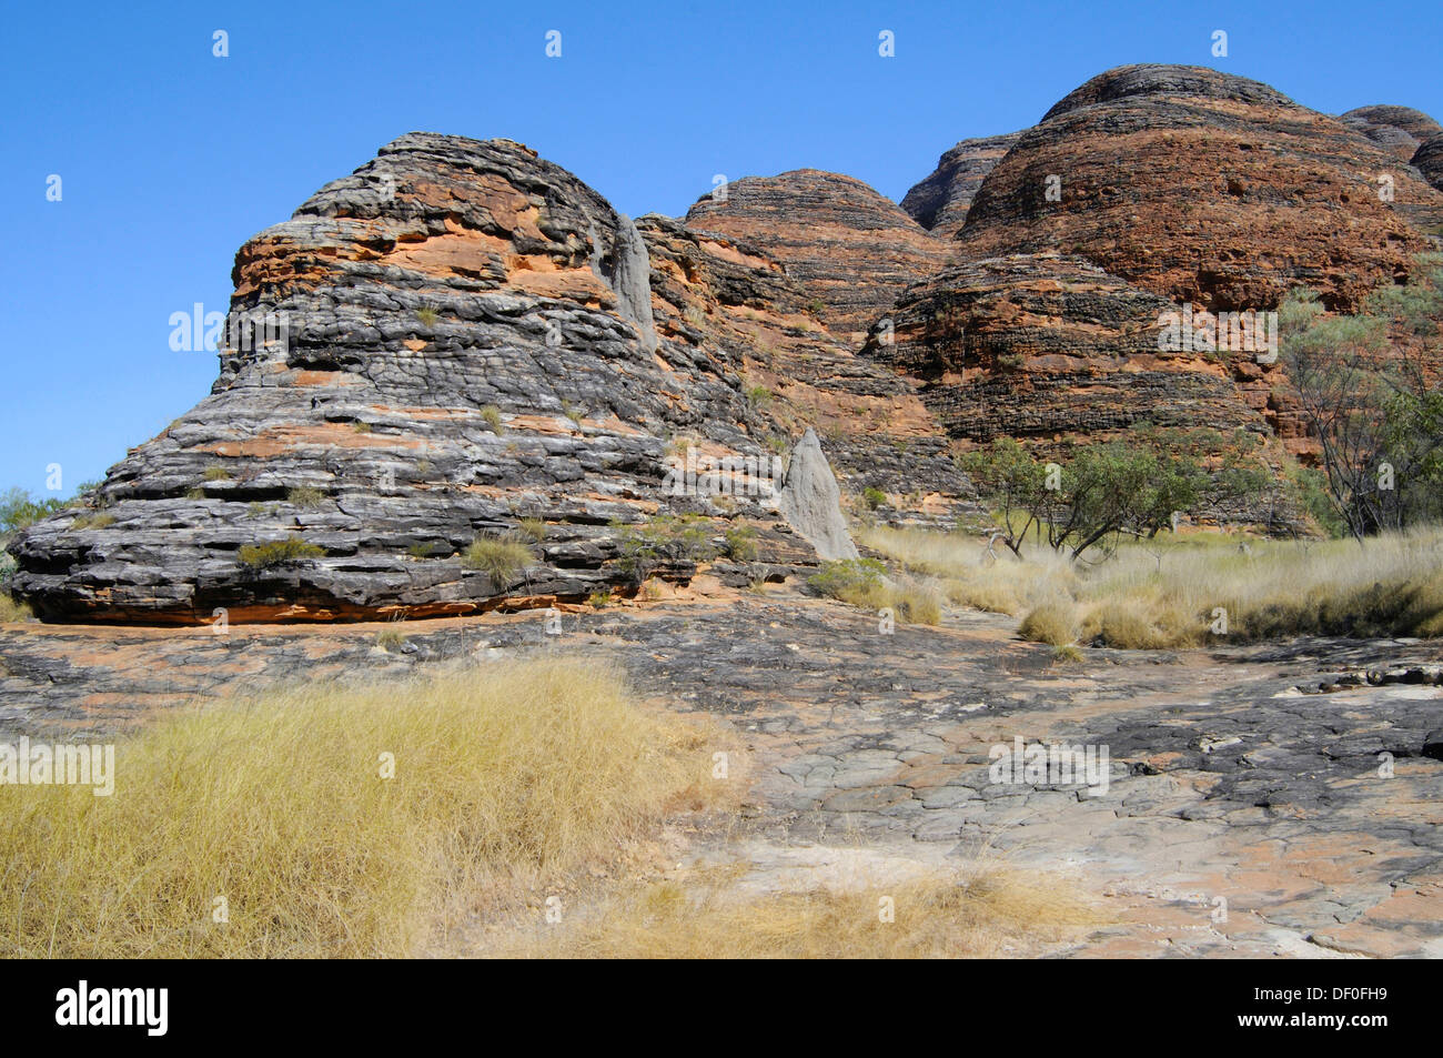
{"label": "distant rounded orange banded dome between left rock and tallest dome", "polygon": [[833,333],[861,335],[908,283],[941,268],[951,247],[861,180],[817,169],[747,176],[687,211],[781,261]]}

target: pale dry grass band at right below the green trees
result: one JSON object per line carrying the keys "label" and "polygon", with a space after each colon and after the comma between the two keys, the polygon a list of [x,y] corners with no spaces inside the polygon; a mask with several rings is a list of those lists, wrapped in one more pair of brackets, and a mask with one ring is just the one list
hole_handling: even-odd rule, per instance
{"label": "pale dry grass band at right below the green trees", "polygon": [[955,602],[1022,616],[1025,635],[1053,645],[1066,642],[1071,626],[1085,642],[1144,650],[1306,634],[1443,635],[1436,527],[1362,547],[1165,533],[1075,567],[1039,548],[1017,561],[999,547],[1001,557],[983,563],[984,541],[922,530],[869,530],[861,540],[947,577]]}

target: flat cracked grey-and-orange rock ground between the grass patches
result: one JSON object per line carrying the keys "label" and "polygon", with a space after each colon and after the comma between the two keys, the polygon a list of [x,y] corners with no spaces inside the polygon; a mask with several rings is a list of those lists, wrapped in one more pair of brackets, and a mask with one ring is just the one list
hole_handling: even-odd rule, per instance
{"label": "flat cracked grey-and-orange rock ground between the grass patches", "polygon": [[[6,625],[0,729],[105,733],[296,678],[429,665],[485,678],[517,652],[595,654],[655,704],[743,735],[752,790],[727,841],[763,875],[1000,856],[1098,902],[1108,925],[1062,954],[1443,956],[1436,645],[1304,639],[1065,663],[1013,624],[954,612],[887,635],[789,586],[736,592],[703,576],[654,603],[574,608],[560,635],[543,612],[224,635]],[[388,628],[404,645],[377,645]],[[1107,746],[1105,791],[993,782],[990,749],[1014,738]],[[716,849],[701,839],[691,854]]]}

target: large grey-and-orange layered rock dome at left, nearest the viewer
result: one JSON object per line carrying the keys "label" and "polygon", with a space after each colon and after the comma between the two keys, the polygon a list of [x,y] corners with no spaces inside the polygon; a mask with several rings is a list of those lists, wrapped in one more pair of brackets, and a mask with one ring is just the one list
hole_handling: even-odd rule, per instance
{"label": "large grey-and-orange layered rock dome at left, nearest the viewer", "polygon": [[[763,561],[815,561],[762,507],[779,482],[762,479],[739,358],[658,338],[641,232],[519,144],[404,136],[248,241],[234,280],[232,338],[263,313],[284,333],[224,349],[211,395],[110,471],[100,510],[13,546],[14,589],[45,616],[582,599],[628,582],[612,523],[717,514],[664,488],[681,432],[756,458],[759,495],[727,507],[756,515]],[[525,518],[528,560],[462,561]],[[304,550],[276,554],[286,541]],[[693,569],[683,554],[658,566]]]}

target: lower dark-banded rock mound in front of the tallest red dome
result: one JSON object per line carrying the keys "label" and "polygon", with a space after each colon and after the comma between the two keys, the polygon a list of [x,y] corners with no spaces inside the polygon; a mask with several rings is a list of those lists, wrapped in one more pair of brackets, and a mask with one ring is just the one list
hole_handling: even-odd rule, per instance
{"label": "lower dark-banded rock mound in front of the tallest red dome", "polygon": [[911,287],[890,341],[873,333],[864,352],[924,378],[945,429],[971,442],[1100,440],[1144,421],[1266,434],[1264,370],[1159,351],[1172,307],[1076,257],[968,261]]}

